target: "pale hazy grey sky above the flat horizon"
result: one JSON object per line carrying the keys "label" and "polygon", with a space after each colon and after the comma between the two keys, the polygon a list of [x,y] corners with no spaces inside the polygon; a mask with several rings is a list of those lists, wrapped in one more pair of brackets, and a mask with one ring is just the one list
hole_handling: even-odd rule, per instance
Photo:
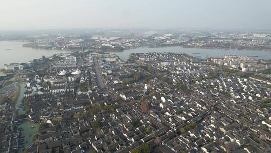
{"label": "pale hazy grey sky above the flat horizon", "polygon": [[0,0],[0,29],[271,29],[271,0]]}

